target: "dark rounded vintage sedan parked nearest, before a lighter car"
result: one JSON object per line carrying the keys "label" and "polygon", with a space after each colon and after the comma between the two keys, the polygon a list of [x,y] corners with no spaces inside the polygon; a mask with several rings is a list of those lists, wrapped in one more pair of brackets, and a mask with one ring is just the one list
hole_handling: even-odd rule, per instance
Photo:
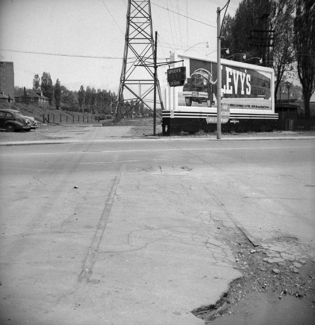
{"label": "dark rounded vintage sedan parked nearest, before a lighter car", "polygon": [[7,132],[30,131],[31,122],[18,110],[0,109],[0,130]]}

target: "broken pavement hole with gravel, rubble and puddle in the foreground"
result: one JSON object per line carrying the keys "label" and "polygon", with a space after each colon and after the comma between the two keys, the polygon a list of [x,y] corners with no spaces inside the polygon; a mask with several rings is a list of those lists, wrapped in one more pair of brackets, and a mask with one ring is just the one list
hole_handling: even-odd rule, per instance
{"label": "broken pavement hole with gravel, rubble and puddle in the foreground", "polygon": [[[221,230],[220,241],[231,247],[235,258],[233,267],[238,269],[243,277],[234,280],[228,292],[223,294],[215,305],[203,306],[192,313],[205,323],[216,319],[219,321],[220,317],[225,316],[222,324],[230,324],[227,322],[229,317],[226,316],[233,315],[231,318],[234,325],[244,324],[244,319],[249,319],[248,315],[256,315],[256,319],[253,316],[254,323],[280,325],[283,324],[284,318],[282,322],[274,321],[279,314],[283,317],[290,316],[290,313],[300,315],[302,305],[304,324],[308,324],[308,320],[312,320],[312,324],[315,316],[315,261],[314,257],[308,254],[308,248],[302,247],[296,238],[291,237],[279,238],[284,240],[273,241],[268,245],[269,248],[254,247],[241,231],[235,231],[233,228]],[[298,252],[286,250],[285,247],[289,243],[294,243]],[[270,309],[271,305],[278,305],[280,309]],[[287,310],[286,314],[284,310]],[[266,315],[270,318],[269,323],[264,322],[264,319],[258,319],[257,322],[257,317],[263,318]],[[294,319],[293,316],[291,318]]]}

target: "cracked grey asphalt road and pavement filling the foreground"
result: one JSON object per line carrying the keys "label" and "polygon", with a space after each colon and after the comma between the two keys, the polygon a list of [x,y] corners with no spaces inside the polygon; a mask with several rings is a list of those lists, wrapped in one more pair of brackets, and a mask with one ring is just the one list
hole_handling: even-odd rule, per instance
{"label": "cracked grey asphalt road and pavement filling the foreground", "polygon": [[1,323],[202,324],[190,311],[240,276],[215,221],[314,254],[314,154],[313,140],[2,147]]}

